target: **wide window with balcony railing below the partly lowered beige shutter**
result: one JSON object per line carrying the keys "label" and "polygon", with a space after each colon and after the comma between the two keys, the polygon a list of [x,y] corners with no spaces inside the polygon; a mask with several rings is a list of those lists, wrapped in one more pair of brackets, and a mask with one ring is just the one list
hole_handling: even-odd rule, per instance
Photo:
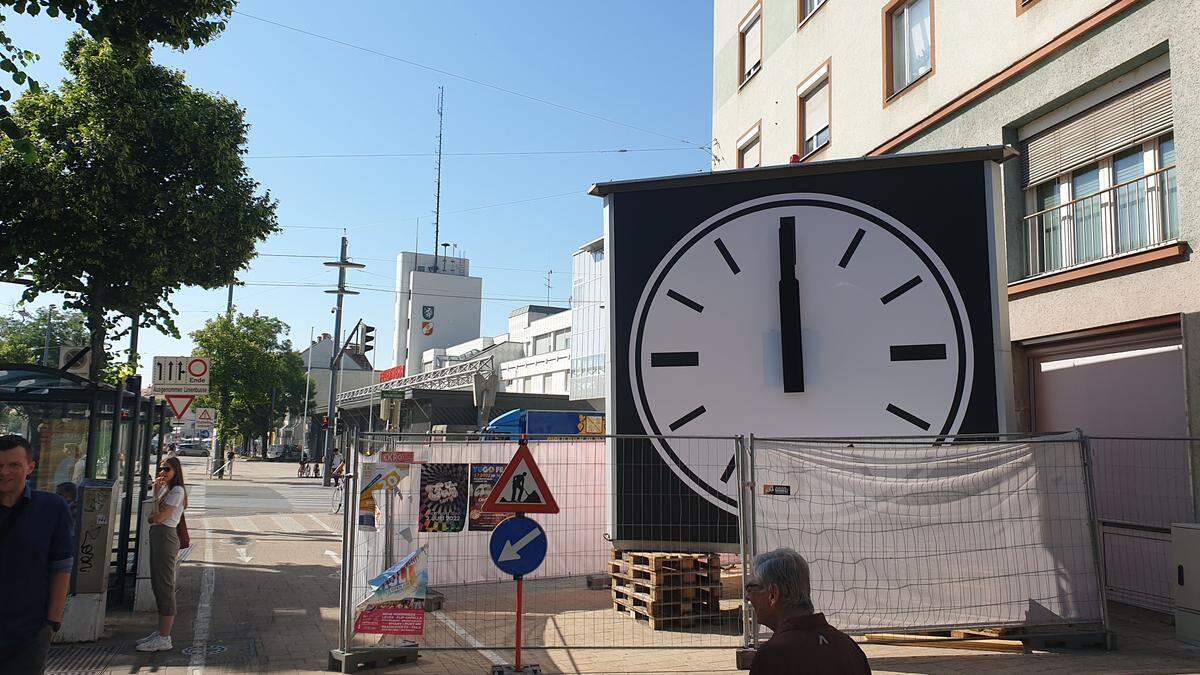
{"label": "wide window with balcony railing below the partly lowered beige shutter", "polygon": [[1178,239],[1175,136],[1120,149],[1026,192],[1024,277]]}

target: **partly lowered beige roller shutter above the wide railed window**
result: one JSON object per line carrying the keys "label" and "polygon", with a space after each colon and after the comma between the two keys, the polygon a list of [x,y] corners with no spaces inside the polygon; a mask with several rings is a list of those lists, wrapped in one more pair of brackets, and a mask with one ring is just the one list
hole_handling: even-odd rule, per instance
{"label": "partly lowered beige roller shutter above the wide railed window", "polygon": [[1164,73],[1025,142],[1032,186],[1171,129],[1171,78]]}

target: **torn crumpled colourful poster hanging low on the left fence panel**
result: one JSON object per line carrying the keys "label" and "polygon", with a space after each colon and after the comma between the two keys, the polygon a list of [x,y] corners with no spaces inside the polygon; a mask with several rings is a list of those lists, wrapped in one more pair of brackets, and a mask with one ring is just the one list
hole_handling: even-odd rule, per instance
{"label": "torn crumpled colourful poster hanging low on the left fence panel", "polygon": [[425,546],[404,556],[383,574],[367,581],[372,593],[359,603],[355,633],[421,635],[425,633]]}

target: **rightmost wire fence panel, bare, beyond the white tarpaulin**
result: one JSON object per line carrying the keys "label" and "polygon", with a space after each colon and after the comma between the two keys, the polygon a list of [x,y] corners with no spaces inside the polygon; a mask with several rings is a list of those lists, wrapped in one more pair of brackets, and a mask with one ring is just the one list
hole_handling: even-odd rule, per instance
{"label": "rightmost wire fence panel, bare, beyond the white tarpaulin", "polygon": [[1090,437],[1105,584],[1114,601],[1171,604],[1171,522],[1193,522],[1195,438]]}

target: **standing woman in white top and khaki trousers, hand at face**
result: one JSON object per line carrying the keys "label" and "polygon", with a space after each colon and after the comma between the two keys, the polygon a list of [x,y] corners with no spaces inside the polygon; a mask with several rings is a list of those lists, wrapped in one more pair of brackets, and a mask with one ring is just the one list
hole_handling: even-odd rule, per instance
{"label": "standing woman in white top and khaki trousers, hand at face", "polygon": [[187,490],[179,458],[167,458],[154,482],[154,510],[150,513],[150,587],[158,604],[158,629],[137,643],[138,651],[168,651],[175,623],[175,558],[179,549],[191,545],[184,509]]}

